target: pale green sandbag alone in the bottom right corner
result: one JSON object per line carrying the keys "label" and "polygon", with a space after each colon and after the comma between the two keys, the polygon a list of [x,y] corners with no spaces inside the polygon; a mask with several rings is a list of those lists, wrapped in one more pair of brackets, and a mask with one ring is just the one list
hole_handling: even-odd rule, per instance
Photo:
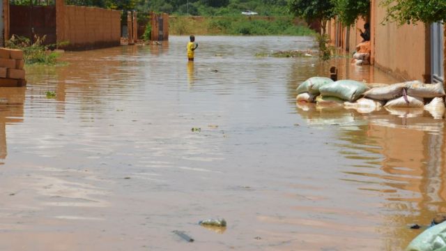
{"label": "pale green sandbag alone in the bottom right corner", "polygon": [[446,222],[424,230],[409,243],[406,251],[446,250]]}

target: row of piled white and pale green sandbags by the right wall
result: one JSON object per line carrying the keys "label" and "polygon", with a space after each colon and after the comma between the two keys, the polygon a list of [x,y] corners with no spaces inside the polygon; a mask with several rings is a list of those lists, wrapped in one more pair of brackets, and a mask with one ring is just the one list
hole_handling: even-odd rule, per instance
{"label": "row of piled white and pale green sandbags by the right wall", "polygon": [[[373,87],[371,87],[373,86]],[[386,109],[419,107],[436,119],[445,114],[443,84],[423,84],[419,81],[398,84],[364,84],[355,80],[333,82],[326,77],[311,77],[297,89],[298,102],[316,102],[320,107],[344,106],[357,112],[374,112]],[[425,105],[424,100],[431,100]]]}

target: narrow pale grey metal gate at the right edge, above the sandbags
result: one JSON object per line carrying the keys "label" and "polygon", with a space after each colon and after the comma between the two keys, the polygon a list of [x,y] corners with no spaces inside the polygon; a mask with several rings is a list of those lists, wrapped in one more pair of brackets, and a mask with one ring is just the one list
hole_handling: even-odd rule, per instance
{"label": "narrow pale grey metal gate at the right edge, above the sandbags", "polygon": [[445,81],[444,66],[444,25],[441,23],[431,24],[431,76],[432,82]]}

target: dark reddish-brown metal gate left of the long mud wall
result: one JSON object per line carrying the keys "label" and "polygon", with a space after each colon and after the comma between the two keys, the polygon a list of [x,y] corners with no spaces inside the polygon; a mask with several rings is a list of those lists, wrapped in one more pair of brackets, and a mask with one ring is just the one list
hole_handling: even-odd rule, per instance
{"label": "dark reddish-brown metal gate left of the long mud wall", "polygon": [[56,43],[56,6],[10,4],[10,35],[24,36],[35,42],[45,38],[45,45]]}

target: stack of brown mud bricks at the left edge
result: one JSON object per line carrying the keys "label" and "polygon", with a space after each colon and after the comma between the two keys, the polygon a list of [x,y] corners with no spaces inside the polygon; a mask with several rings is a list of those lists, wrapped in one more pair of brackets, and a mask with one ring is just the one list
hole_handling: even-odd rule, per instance
{"label": "stack of brown mud bricks at the left edge", "polygon": [[22,50],[0,48],[0,87],[25,86]]}

